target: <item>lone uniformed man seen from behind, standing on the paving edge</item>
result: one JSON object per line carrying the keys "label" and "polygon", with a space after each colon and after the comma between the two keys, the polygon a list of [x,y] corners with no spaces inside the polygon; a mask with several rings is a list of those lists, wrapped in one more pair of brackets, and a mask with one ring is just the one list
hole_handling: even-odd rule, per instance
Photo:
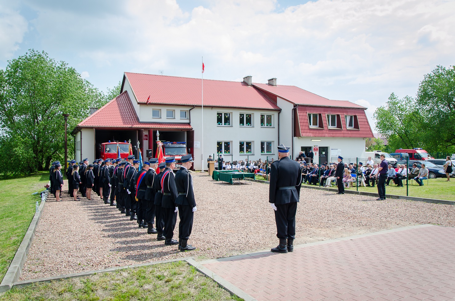
{"label": "lone uniformed man seen from behind, standing on the paving edge", "polygon": [[270,168],[269,202],[275,210],[279,245],[272,252],[293,252],[295,214],[302,186],[302,167],[289,158],[289,148],[278,146],[278,161]]}

